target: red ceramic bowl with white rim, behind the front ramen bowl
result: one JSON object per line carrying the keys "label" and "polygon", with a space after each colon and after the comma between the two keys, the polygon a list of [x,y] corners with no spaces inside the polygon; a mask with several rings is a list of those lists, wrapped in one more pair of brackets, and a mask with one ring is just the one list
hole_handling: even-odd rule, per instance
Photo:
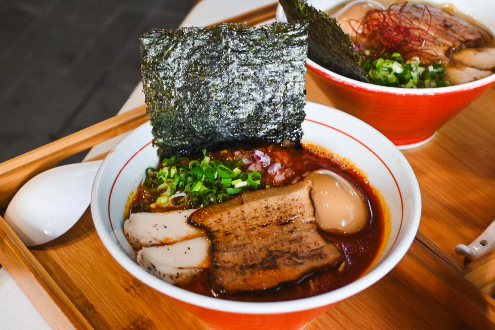
{"label": "red ceramic bowl with white rim, behind the front ramen bowl", "polygon": [[[318,9],[328,10],[344,0],[308,0]],[[494,0],[428,0],[432,4],[453,4],[495,33]],[[277,21],[286,22],[282,6]],[[358,82],[306,61],[308,75],[341,110],[365,121],[399,148],[415,147],[429,141],[452,117],[495,84],[495,75],[457,86],[402,89]]]}

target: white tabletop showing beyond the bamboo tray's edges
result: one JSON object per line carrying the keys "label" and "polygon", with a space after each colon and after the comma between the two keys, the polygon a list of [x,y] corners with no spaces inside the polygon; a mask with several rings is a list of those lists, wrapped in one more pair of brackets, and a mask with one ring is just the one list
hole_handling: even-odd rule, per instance
{"label": "white tabletop showing beyond the bamboo tray's edges", "polygon": [[[186,16],[181,26],[212,24],[273,2],[275,0],[202,0]],[[139,83],[118,113],[129,111],[144,102],[145,95]],[[96,145],[85,159],[110,150],[124,136],[125,134]],[[4,268],[0,268],[0,329],[50,329]]]}

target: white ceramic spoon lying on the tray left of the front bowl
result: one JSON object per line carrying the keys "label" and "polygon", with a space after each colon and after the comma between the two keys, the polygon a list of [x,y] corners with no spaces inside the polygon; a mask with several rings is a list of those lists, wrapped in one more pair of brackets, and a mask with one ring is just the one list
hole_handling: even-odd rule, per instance
{"label": "white ceramic spoon lying on the tray left of the front bowl", "polygon": [[52,168],[17,191],[4,219],[26,246],[46,243],[81,218],[101,160]]}

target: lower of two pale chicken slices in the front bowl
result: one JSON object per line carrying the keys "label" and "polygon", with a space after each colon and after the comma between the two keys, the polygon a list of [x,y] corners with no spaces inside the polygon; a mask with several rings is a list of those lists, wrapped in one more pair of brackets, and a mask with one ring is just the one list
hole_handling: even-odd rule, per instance
{"label": "lower of two pale chicken slices in the front bowl", "polygon": [[179,243],[143,247],[138,252],[138,264],[148,273],[172,284],[187,283],[209,267],[210,242],[206,236]]}

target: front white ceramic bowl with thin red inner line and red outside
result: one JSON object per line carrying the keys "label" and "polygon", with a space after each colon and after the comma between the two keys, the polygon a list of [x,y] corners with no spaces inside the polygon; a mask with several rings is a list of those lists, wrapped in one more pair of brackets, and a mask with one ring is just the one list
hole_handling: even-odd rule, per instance
{"label": "front white ceramic bowl with thin red inner line and red outside", "polygon": [[141,183],[144,170],[158,164],[149,123],[122,140],[105,158],[96,175],[91,213],[105,247],[129,273],[175,300],[211,329],[301,329],[333,304],[380,280],[404,256],[418,230],[421,196],[414,172],[391,141],[361,120],[312,102],[306,104],[305,111],[303,141],[321,145],[353,162],[380,191],[390,212],[382,252],[364,276],[310,298],[256,303],[199,295],[146,272],[133,260],[134,251],[122,229],[130,192]]}

